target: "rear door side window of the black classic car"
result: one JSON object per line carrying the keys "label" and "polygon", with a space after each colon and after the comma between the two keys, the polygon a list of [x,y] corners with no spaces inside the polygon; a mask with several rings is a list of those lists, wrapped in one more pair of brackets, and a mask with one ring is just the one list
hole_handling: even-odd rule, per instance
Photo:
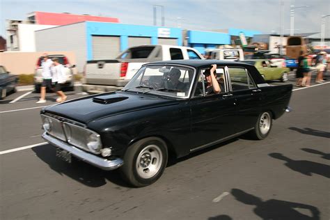
{"label": "rear door side window of the black classic car", "polygon": [[249,72],[245,68],[228,68],[233,91],[256,88]]}

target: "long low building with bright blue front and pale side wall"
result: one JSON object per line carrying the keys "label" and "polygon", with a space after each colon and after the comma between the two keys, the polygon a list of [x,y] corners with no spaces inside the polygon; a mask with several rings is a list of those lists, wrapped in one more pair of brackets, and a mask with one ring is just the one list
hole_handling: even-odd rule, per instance
{"label": "long low building with bright blue front and pale side wall", "polygon": [[[180,28],[144,26],[109,22],[79,22],[36,31],[36,50],[76,54],[77,68],[83,71],[86,61],[116,58],[127,47],[137,45],[179,45],[205,49],[230,45],[232,36],[253,36],[258,31],[229,29],[228,33],[182,31]],[[242,34],[241,34],[242,35]]]}

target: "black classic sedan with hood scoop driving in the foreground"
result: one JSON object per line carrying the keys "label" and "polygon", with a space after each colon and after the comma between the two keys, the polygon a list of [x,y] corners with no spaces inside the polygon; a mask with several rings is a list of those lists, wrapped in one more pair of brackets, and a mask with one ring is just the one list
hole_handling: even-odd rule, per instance
{"label": "black classic sedan with hood scoop driving in the foreground", "polygon": [[[221,92],[207,95],[204,73],[214,63]],[[68,162],[73,156],[104,170],[120,168],[125,180],[143,187],[162,175],[169,157],[248,132],[265,139],[272,121],[288,111],[291,93],[292,85],[269,86],[246,63],[149,63],[122,91],[42,109],[42,137]]]}

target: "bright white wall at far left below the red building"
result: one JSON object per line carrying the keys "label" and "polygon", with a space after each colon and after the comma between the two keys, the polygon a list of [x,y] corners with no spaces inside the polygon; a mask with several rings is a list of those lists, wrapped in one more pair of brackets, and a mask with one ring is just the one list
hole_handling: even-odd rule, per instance
{"label": "bright white wall at far left below the red building", "polygon": [[19,52],[36,52],[35,31],[49,29],[56,25],[18,24]]}

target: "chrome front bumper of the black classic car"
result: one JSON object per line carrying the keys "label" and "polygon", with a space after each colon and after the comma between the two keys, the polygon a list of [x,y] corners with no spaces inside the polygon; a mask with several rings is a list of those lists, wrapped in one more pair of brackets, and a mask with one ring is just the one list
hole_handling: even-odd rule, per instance
{"label": "chrome front bumper of the black classic car", "polygon": [[96,166],[98,168],[102,168],[105,171],[114,170],[124,164],[123,159],[116,158],[113,160],[109,160],[109,159],[103,159],[101,157],[97,157],[95,155],[92,155],[91,153],[85,152],[84,150],[80,150],[79,148],[71,146],[68,143],[65,143],[64,141],[60,141],[48,135],[47,132],[42,134],[42,138],[48,141],[53,146],[71,152],[71,154],[74,155],[74,157],[77,157],[82,161],[91,164],[93,166]]}

